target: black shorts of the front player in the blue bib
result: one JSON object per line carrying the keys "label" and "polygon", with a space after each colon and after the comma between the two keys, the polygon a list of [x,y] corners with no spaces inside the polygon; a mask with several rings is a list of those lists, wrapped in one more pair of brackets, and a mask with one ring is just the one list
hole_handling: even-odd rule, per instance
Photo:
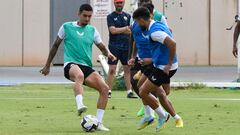
{"label": "black shorts of the front player in the blue bib", "polygon": [[177,72],[176,70],[171,70],[169,75],[163,72],[163,70],[156,67],[152,68],[152,73],[148,76],[148,79],[155,85],[161,86],[162,84],[169,84],[171,77]]}

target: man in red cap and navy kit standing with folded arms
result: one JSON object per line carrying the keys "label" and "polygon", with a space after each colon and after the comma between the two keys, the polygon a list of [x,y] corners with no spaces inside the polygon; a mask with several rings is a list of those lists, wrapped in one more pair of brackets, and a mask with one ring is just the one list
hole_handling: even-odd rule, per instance
{"label": "man in red cap and navy kit standing with folded arms", "polygon": [[111,90],[113,79],[116,74],[118,60],[121,61],[124,70],[124,80],[127,88],[127,98],[137,98],[130,82],[130,66],[128,65],[128,48],[131,30],[130,14],[123,11],[125,0],[114,0],[115,11],[107,16],[107,25],[109,29],[109,50],[117,57],[117,60],[108,60],[109,72],[107,84],[110,88],[109,98],[111,98]]}

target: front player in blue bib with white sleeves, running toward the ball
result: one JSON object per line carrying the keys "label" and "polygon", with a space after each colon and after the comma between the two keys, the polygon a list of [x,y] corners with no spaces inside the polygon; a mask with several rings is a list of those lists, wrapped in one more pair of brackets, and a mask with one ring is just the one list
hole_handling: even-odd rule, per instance
{"label": "front player in blue bib with white sleeves, running toward the ball", "polygon": [[[138,8],[134,12],[133,18],[143,32],[147,31],[151,45],[154,66],[151,74],[148,75],[148,79],[141,85],[139,95],[143,102],[158,114],[159,119],[156,127],[158,131],[167,122],[168,113],[161,108],[157,99],[151,93],[162,91],[160,86],[170,84],[170,78],[177,71],[176,42],[173,40],[172,33],[166,25],[151,19],[148,9],[144,7]],[[167,91],[170,91],[170,87]],[[175,119],[178,119],[176,127],[183,127],[183,121],[180,116],[176,115]]]}

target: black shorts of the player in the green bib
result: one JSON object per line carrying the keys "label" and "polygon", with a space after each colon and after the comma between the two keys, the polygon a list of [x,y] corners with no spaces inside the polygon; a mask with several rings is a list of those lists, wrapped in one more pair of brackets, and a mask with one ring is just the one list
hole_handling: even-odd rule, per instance
{"label": "black shorts of the player in the green bib", "polygon": [[84,80],[93,72],[95,72],[94,69],[92,69],[91,67],[88,66],[84,66],[84,65],[80,65],[80,64],[76,64],[76,63],[68,63],[65,67],[64,67],[64,76],[65,78],[67,78],[68,80],[70,80],[70,75],[69,75],[69,70],[73,65],[77,65],[83,72],[84,75]]}

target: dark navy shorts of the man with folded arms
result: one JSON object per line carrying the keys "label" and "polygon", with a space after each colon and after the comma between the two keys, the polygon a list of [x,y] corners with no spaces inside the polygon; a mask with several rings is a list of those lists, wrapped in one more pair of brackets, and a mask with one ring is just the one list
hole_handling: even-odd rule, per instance
{"label": "dark navy shorts of the man with folded arms", "polygon": [[117,58],[115,61],[108,59],[109,65],[117,65],[118,60],[121,61],[122,65],[128,65],[128,50],[121,50],[117,47],[109,46],[109,51]]}

